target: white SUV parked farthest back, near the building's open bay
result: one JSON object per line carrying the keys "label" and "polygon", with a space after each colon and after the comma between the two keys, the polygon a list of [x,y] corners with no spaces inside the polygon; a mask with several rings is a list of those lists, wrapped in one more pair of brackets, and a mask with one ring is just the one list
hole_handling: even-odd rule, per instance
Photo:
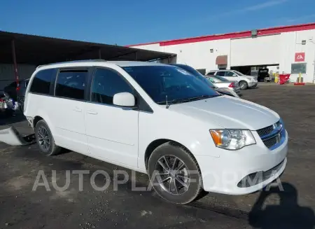
{"label": "white SUV parked farthest back, near the building's open bay", "polygon": [[245,90],[247,88],[255,88],[258,84],[258,81],[253,76],[246,76],[239,71],[235,70],[214,70],[208,71],[207,76],[222,76],[228,81],[238,81],[239,88]]}

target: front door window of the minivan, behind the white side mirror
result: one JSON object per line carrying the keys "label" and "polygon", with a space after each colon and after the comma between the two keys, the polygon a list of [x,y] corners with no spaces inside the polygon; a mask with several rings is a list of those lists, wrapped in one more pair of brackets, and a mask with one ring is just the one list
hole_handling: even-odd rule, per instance
{"label": "front door window of the minivan, behind the white side mirror", "polygon": [[133,94],[130,85],[116,71],[97,69],[92,83],[92,102],[113,104],[113,96],[120,92],[130,92]]}

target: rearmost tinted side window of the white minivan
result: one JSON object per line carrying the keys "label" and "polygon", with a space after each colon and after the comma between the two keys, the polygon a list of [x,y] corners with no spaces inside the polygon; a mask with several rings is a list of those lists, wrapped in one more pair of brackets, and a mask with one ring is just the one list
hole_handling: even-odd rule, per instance
{"label": "rearmost tinted side window of the white minivan", "polygon": [[38,71],[31,82],[30,92],[49,95],[50,92],[50,81],[55,74],[55,69],[45,69]]}

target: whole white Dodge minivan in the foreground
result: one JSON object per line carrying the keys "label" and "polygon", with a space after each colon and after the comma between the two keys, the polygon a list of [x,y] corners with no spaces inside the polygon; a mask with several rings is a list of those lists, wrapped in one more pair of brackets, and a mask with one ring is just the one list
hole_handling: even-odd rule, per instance
{"label": "whole white Dodge minivan in the foreground", "polygon": [[32,74],[24,113],[45,155],[67,148],[148,174],[170,202],[201,190],[243,195],[286,167],[274,111],[220,95],[188,71],[153,62],[48,64]]}

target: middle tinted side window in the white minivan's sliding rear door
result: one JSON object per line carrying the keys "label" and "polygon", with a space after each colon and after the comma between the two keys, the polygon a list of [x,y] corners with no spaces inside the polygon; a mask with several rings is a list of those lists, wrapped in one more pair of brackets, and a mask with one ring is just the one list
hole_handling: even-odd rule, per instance
{"label": "middle tinted side window in the white minivan's sliding rear door", "polygon": [[55,86],[55,96],[84,99],[87,69],[60,70]]}

